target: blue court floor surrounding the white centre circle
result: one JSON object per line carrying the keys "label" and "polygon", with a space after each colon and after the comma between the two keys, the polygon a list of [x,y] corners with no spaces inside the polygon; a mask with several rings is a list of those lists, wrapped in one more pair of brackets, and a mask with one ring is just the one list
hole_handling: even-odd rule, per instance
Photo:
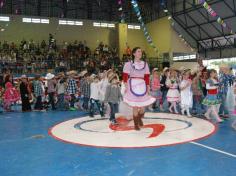
{"label": "blue court floor surrounding the white centre circle", "polygon": [[209,138],[141,149],[68,144],[49,128],[83,112],[0,114],[0,176],[236,176],[235,118]]}

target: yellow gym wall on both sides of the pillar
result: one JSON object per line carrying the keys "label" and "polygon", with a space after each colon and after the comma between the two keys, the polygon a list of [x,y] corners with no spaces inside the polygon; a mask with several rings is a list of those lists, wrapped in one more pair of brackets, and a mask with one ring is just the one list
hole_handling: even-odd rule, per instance
{"label": "yellow gym wall on both sides of the pillar", "polygon": [[[36,42],[42,40],[48,41],[48,34],[54,34],[57,43],[63,41],[73,42],[87,41],[88,46],[94,50],[99,42],[108,44],[112,47],[118,47],[118,30],[117,28],[98,28],[93,27],[93,21],[83,20],[84,26],[65,26],[58,25],[57,18],[50,18],[50,24],[29,24],[22,23],[21,16],[12,16],[9,26],[5,27],[6,31],[0,32],[0,41],[14,41],[19,43],[23,38],[33,39]],[[0,26],[5,26],[6,22],[0,22]],[[170,21],[165,18],[158,19],[148,23],[147,29],[153,39],[153,42],[159,49],[159,55],[172,52],[191,52],[184,42],[178,37],[172,29]],[[140,46],[146,51],[148,57],[157,57],[156,52],[148,44],[142,30],[127,30],[127,44],[130,48]]]}

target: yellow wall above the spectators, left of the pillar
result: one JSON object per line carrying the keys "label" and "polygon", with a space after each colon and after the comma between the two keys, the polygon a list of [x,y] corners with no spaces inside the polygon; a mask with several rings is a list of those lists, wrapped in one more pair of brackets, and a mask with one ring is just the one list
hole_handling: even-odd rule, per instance
{"label": "yellow wall above the spectators, left of the pillar", "polygon": [[[87,41],[91,49],[95,49],[98,43],[102,41],[104,44],[117,46],[116,29],[93,27],[93,21],[84,21],[83,26],[67,26],[58,25],[58,19],[51,18],[50,24],[30,24],[22,23],[22,17],[14,16],[11,18],[6,31],[0,32],[0,41],[14,41],[19,43],[23,38],[26,40],[33,39],[35,42],[42,40],[48,41],[49,33],[52,33],[58,44],[63,41],[73,42]],[[7,23],[0,22],[1,26]]]}

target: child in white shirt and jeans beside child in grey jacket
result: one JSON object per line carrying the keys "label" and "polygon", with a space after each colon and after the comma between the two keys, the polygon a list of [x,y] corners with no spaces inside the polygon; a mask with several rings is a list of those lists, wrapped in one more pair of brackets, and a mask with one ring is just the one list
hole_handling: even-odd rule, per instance
{"label": "child in white shirt and jeans beside child in grey jacket", "polygon": [[90,110],[89,110],[89,116],[94,117],[95,113],[95,104],[100,112],[101,117],[104,117],[104,112],[101,107],[101,103],[99,101],[100,99],[100,94],[99,94],[99,89],[101,86],[101,82],[99,80],[98,76],[95,76],[93,79],[93,82],[90,84]]}

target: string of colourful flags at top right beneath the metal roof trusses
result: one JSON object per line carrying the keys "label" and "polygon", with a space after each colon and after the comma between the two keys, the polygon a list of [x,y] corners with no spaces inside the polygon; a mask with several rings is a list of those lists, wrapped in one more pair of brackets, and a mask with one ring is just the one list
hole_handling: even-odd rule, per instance
{"label": "string of colourful flags at top right beneath the metal roof trusses", "polygon": [[235,34],[233,29],[216,13],[216,11],[212,9],[212,7],[206,2],[206,0],[196,0],[195,3],[201,4],[212,17],[217,19],[217,23],[230,31],[230,34]]}

